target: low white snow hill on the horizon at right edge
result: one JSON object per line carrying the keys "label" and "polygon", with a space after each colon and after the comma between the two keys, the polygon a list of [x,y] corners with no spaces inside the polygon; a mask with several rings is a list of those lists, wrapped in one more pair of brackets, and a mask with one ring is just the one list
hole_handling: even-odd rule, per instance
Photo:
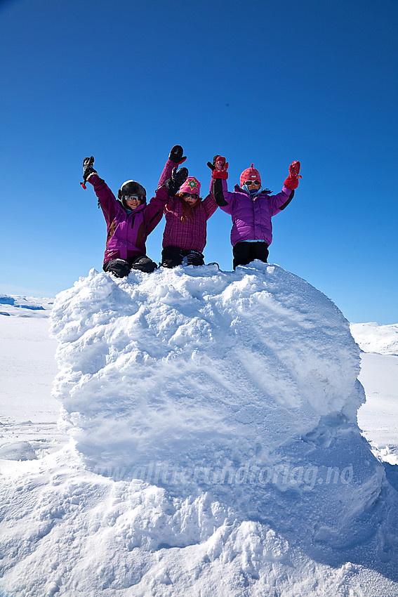
{"label": "low white snow hill on the horizon at right edge", "polygon": [[364,353],[398,356],[398,324],[350,324],[352,336]]}

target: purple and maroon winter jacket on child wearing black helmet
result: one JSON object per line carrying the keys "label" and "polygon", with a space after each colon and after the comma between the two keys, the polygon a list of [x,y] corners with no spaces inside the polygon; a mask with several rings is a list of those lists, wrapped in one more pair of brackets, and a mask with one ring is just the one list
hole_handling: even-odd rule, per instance
{"label": "purple and maroon winter jacket on child wearing black helmet", "polygon": [[87,180],[94,187],[107,223],[104,265],[111,259],[145,255],[147,235],[161,221],[169,199],[166,188],[159,188],[149,204],[144,203],[128,214],[98,174],[92,174]]}

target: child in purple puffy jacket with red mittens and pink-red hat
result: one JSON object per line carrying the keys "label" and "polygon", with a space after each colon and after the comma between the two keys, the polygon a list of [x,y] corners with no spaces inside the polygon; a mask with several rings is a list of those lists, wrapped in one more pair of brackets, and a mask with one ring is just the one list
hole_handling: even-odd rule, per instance
{"label": "child in purple puffy jacket with red mittens and pink-red hat", "polygon": [[215,155],[212,170],[213,196],[225,213],[232,216],[231,244],[234,255],[234,269],[254,259],[267,263],[268,247],[272,242],[271,218],[285,209],[293,199],[298,187],[300,162],[292,162],[289,175],[281,192],[270,195],[270,189],[262,190],[260,173],[251,164],[241,173],[240,187],[234,192],[227,189],[228,163],[225,157]]}

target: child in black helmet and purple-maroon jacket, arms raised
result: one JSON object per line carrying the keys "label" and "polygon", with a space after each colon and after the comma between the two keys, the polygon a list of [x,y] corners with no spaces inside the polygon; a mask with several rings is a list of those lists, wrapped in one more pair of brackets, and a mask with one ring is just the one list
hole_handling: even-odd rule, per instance
{"label": "child in black helmet and purple-maroon jacket, arms raised", "polygon": [[[163,210],[170,197],[175,195],[186,180],[188,171],[180,168],[168,172],[155,196],[147,204],[145,188],[137,181],[126,181],[117,192],[116,199],[105,181],[93,169],[94,158],[83,160],[84,183],[94,187],[95,195],[107,223],[107,244],[103,269],[117,277],[127,276],[131,269],[150,273],[157,264],[146,255],[147,235],[161,221]],[[81,183],[84,188],[86,186]]]}

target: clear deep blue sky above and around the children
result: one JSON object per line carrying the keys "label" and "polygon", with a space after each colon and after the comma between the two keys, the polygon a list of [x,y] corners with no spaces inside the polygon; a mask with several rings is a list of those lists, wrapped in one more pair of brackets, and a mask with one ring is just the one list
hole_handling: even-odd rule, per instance
{"label": "clear deep blue sky above and around the children", "polygon": [[[3,1],[0,291],[55,296],[102,268],[86,155],[114,192],[133,178],[152,196],[179,143],[204,192],[215,153],[230,188],[254,162],[274,192],[300,159],[269,261],[352,322],[398,322],[397,18],[396,0]],[[230,228],[208,222],[224,270]]]}

